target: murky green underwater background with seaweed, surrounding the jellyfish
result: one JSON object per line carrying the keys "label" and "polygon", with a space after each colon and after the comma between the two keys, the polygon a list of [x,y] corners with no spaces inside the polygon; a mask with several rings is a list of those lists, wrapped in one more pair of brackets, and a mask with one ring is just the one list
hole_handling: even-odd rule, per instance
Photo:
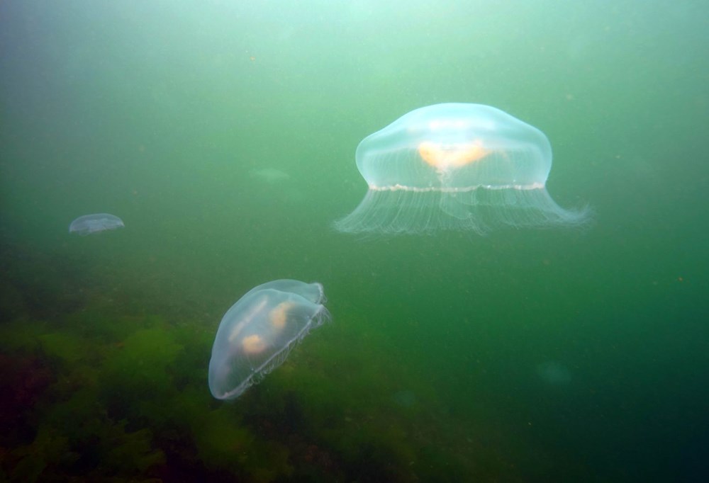
{"label": "murky green underwater background with seaweed, surrounding the jellyfish", "polygon": [[[709,479],[705,1],[0,3],[0,481]],[[549,137],[578,228],[335,232],[410,110]],[[125,228],[68,233],[109,212]],[[232,402],[221,317],[333,321]]]}

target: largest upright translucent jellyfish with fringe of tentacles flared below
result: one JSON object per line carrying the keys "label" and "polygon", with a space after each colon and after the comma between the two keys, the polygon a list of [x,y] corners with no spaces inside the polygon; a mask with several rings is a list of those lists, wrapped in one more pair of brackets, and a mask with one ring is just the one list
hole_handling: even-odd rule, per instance
{"label": "largest upright translucent jellyfish with fringe of tentacles flared below", "polygon": [[546,190],[552,148],[543,132],[481,104],[411,111],[359,143],[369,185],[340,232],[383,234],[582,225],[588,208],[564,210]]}

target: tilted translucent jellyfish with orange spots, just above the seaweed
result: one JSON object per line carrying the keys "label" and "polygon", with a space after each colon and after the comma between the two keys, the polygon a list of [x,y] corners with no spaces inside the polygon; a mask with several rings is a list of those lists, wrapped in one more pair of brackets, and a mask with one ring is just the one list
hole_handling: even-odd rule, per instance
{"label": "tilted translucent jellyfish with orange spots, just above the seaweed", "polygon": [[284,363],[291,349],[330,319],[320,283],[274,280],[249,290],[224,314],[209,361],[209,390],[235,399]]}

